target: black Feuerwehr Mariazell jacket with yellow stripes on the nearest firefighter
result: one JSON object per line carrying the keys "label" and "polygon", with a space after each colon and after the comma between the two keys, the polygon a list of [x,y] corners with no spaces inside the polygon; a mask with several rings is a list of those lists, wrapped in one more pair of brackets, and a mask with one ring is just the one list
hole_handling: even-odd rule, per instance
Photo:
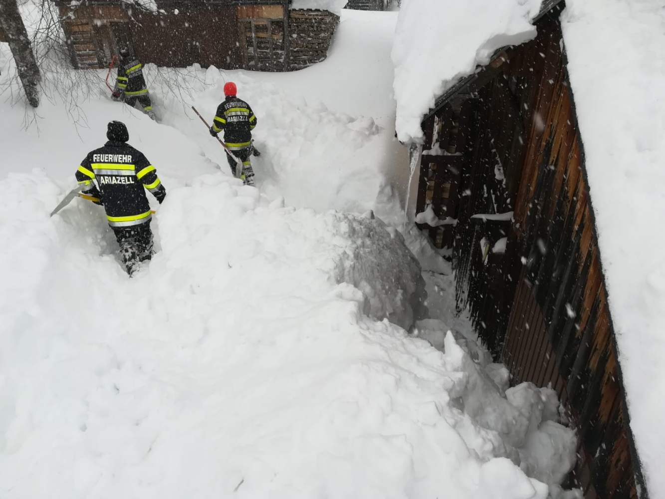
{"label": "black Feuerwehr Mariazell jacket with yellow stripes on the nearest firefighter", "polygon": [[[76,170],[82,191],[101,198],[108,224],[128,227],[150,220],[145,189],[162,203],[166,189],[142,152],[125,142],[109,140],[88,153]],[[96,185],[95,185],[96,184]]]}

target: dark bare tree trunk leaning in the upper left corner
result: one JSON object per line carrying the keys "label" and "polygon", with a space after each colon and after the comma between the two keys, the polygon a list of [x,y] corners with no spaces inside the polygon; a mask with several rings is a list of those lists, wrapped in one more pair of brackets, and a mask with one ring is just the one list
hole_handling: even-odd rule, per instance
{"label": "dark bare tree trunk leaning in the upper left corner", "polygon": [[16,0],[0,0],[0,28],[5,32],[5,38],[9,42],[9,49],[16,61],[16,68],[28,102],[31,106],[37,107],[41,76]]}

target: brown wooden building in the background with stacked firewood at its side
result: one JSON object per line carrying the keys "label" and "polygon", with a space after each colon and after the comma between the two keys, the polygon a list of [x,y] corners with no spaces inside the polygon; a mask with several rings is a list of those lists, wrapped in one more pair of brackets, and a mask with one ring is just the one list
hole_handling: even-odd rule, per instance
{"label": "brown wooden building in the background with stacked firewood at its side", "polygon": [[143,63],[293,71],[327,57],[339,17],[289,0],[58,1],[76,69],[108,67],[121,47]]}

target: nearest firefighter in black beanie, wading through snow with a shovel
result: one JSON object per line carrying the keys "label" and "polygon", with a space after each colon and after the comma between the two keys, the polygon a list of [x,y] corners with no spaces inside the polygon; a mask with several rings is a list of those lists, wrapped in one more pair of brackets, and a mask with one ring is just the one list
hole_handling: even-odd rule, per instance
{"label": "nearest firefighter in black beanie, wading through snow with a shovel", "polygon": [[96,204],[104,206],[127,273],[132,275],[138,262],[152,257],[152,212],[144,188],[160,204],[166,189],[146,156],[126,144],[129,134],[124,123],[110,122],[106,138],[104,147],[88,153],[81,162],[76,180],[83,186],[82,192],[99,198]]}

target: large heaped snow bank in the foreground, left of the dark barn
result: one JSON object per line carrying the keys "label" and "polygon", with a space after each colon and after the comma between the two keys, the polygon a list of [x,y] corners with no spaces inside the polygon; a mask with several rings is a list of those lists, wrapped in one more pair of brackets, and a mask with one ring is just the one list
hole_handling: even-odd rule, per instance
{"label": "large heaped snow bank in the foreground, left of the dark barn", "polygon": [[409,315],[389,283],[418,287],[380,222],[199,176],[127,279],[100,208],[48,217],[63,193],[0,182],[3,496],[547,496],[513,464],[541,398],[378,320]]}

